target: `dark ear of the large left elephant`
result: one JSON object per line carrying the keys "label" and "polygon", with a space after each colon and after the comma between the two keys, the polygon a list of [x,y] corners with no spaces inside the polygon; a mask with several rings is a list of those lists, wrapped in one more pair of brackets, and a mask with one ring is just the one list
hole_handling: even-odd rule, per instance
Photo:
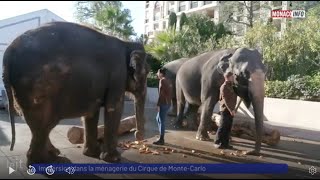
{"label": "dark ear of the large left elephant", "polygon": [[139,77],[147,73],[146,67],[147,54],[144,51],[135,50],[130,54],[130,68],[132,68],[133,78],[138,81]]}

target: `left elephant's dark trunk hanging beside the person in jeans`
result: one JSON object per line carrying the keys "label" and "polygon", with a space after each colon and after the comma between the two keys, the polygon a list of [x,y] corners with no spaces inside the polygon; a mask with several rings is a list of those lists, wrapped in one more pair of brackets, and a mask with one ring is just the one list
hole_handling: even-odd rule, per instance
{"label": "left elephant's dark trunk hanging beside the person in jeans", "polygon": [[135,94],[134,100],[134,110],[136,114],[136,132],[135,137],[137,141],[141,141],[144,139],[144,124],[145,124],[145,117],[144,117],[144,106],[146,102],[146,93],[147,86],[143,89],[143,92],[138,92]]}

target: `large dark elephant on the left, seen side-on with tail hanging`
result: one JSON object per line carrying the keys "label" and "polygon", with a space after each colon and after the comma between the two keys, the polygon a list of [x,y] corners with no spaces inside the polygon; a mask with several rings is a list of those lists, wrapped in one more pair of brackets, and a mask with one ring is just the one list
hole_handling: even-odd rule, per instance
{"label": "large dark elephant on the left, seen side-on with tail hanging", "polygon": [[[9,101],[12,142],[14,113],[19,111],[32,139],[27,165],[54,162],[60,151],[50,131],[61,119],[81,117],[85,126],[83,154],[119,162],[117,129],[124,96],[132,94],[137,140],[144,134],[147,63],[144,46],[69,22],[51,22],[18,36],[3,58],[3,81]],[[104,140],[99,146],[97,125],[104,107]]]}

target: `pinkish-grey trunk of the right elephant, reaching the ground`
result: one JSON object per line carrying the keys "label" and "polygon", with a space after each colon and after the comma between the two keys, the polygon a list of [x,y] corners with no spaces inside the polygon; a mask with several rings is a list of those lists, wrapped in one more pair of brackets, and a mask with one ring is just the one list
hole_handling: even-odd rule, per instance
{"label": "pinkish-grey trunk of the right elephant, reaching the ground", "polygon": [[260,152],[263,135],[264,77],[262,70],[256,70],[250,75],[249,80],[249,94],[252,99],[256,127],[256,152]]}

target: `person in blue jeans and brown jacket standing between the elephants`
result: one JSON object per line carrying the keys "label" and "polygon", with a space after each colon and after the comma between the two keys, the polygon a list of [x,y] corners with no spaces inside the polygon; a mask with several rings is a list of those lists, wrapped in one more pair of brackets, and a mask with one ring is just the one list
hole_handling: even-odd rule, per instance
{"label": "person in blue jeans and brown jacket standing between the elephants", "polygon": [[171,94],[172,94],[172,85],[165,78],[165,70],[163,68],[159,69],[157,72],[159,78],[159,99],[157,103],[157,122],[160,132],[160,138],[153,144],[164,145],[164,133],[165,133],[165,120],[167,113],[171,105]]}

